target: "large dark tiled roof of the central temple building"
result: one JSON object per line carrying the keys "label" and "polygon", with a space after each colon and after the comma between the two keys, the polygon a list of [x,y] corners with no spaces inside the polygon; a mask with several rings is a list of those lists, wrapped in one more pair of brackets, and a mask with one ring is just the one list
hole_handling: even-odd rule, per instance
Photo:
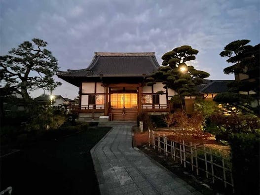
{"label": "large dark tiled roof of the central temple building", "polygon": [[57,76],[68,82],[71,82],[70,78],[144,77],[149,76],[159,67],[154,52],[95,52],[88,68],[59,71]]}

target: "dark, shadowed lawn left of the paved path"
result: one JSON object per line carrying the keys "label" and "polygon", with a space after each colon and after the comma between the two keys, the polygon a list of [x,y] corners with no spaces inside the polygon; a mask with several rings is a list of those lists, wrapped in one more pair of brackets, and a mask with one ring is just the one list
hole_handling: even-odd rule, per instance
{"label": "dark, shadowed lawn left of the paved path", "polygon": [[12,195],[99,194],[90,150],[110,130],[92,127],[0,158],[0,190]]}

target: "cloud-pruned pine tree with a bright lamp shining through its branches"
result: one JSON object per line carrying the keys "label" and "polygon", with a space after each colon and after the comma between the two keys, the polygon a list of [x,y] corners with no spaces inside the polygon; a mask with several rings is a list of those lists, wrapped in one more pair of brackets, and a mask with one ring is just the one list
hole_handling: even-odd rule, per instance
{"label": "cloud-pruned pine tree with a bright lamp shining through its branches", "polygon": [[[165,53],[162,56],[162,67],[147,78],[147,84],[151,86],[162,81],[165,89],[170,88],[178,93],[173,99],[179,99],[185,110],[185,96],[196,95],[196,86],[203,82],[203,78],[210,76],[209,73],[196,70],[193,66],[186,64],[188,61],[195,60],[197,53],[198,50],[188,45],[176,47]],[[157,93],[163,93],[163,91]]]}

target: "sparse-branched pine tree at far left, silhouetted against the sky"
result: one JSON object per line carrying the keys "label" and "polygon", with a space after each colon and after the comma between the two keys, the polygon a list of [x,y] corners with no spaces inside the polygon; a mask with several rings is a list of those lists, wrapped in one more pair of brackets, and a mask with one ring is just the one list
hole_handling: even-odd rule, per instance
{"label": "sparse-branched pine tree at far left, silhouetted against the sky", "polygon": [[9,55],[0,56],[0,80],[6,90],[21,94],[27,102],[28,91],[53,90],[61,85],[53,79],[59,69],[58,61],[46,46],[47,42],[32,39],[11,49]]}

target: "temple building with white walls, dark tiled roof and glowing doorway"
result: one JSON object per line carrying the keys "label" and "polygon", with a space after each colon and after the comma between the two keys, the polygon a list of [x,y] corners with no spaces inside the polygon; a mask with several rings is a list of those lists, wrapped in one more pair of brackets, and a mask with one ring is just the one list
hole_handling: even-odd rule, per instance
{"label": "temple building with white walls, dark tiled roof and glowing doorway", "polygon": [[[153,86],[145,82],[159,67],[154,52],[95,52],[88,68],[59,71],[57,76],[79,87],[79,106],[74,110],[79,118],[135,120],[142,112],[159,115],[171,111],[170,99],[175,91],[164,89],[161,82]],[[202,88],[210,82],[207,80]],[[160,90],[163,94],[156,94]],[[194,98],[186,97],[187,112],[194,108]]]}

